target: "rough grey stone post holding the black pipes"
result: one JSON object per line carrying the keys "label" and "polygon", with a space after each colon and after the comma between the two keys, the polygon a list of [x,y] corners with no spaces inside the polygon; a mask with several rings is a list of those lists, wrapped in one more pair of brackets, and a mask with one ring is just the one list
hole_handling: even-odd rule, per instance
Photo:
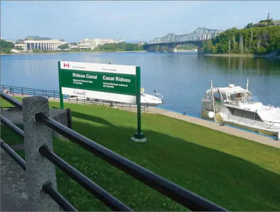
{"label": "rough grey stone post holding the black pipes", "polygon": [[39,154],[38,149],[47,145],[53,151],[52,130],[35,121],[35,114],[43,112],[50,116],[49,100],[44,97],[22,99],[26,175],[31,211],[61,211],[60,206],[46,193],[42,186],[51,183],[57,190],[55,165]]}

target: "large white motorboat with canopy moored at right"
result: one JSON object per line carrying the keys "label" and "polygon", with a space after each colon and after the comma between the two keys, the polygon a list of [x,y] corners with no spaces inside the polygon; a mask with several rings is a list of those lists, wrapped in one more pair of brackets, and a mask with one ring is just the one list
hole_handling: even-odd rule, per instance
{"label": "large white motorboat with canopy moored at right", "polygon": [[280,137],[280,108],[263,105],[248,90],[234,84],[210,89],[202,100],[201,117],[261,134]]}

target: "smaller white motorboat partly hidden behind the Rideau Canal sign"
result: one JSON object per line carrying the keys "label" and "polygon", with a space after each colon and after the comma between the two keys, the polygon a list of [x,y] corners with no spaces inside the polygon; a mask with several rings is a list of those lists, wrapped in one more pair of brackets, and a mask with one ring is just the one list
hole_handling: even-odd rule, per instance
{"label": "smaller white motorboat partly hidden behind the Rideau Canal sign", "polygon": [[[140,95],[141,95],[141,105],[142,106],[157,106],[160,104],[165,104],[162,100],[164,98],[163,94],[156,94],[155,90],[154,90],[154,94],[145,94],[144,88],[141,88],[140,92],[141,92]],[[69,96],[67,97],[67,99],[69,99]],[[92,101],[92,102],[99,101],[98,99],[95,99],[95,98],[85,98],[85,97],[77,97],[77,96],[70,96],[70,99],[77,100],[77,101],[85,101],[85,100]],[[110,101],[103,100],[103,102],[109,103]]]}

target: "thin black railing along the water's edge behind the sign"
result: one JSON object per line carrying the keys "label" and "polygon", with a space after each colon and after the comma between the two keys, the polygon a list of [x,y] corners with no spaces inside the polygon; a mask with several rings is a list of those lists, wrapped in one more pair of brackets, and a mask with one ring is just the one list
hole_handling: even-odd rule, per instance
{"label": "thin black railing along the water's edge behind the sign", "polygon": [[[48,99],[59,100],[60,93],[59,91],[50,91],[50,90],[40,90],[40,89],[30,89],[24,87],[17,87],[17,86],[7,86],[2,84],[0,87],[0,91],[6,94],[11,94],[15,96],[43,96]],[[67,99],[68,102],[76,103],[76,104],[95,104],[95,105],[104,105],[104,106],[118,106],[121,108],[127,108],[133,110],[137,108],[137,105],[128,104],[124,102],[111,102],[106,100],[100,99],[93,99],[93,98],[86,98],[86,97],[76,97],[76,96],[69,96],[63,95],[63,99]],[[1,107],[3,109],[5,107]],[[142,110],[146,112],[148,111],[148,104],[141,106]]]}

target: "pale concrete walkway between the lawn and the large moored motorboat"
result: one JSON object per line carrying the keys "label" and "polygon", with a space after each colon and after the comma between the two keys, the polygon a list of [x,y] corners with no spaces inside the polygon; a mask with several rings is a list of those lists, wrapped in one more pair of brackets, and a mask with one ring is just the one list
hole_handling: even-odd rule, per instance
{"label": "pale concrete walkway between the lawn and the large moored motorboat", "polygon": [[188,115],[182,115],[180,113],[164,110],[164,109],[157,108],[157,107],[149,107],[149,112],[153,112],[153,113],[162,114],[162,115],[166,115],[166,116],[169,116],[169,117],[181,119],[181,120],[191,122],[191,123],[195,123],[195,124],[198,124],[198,125],[201,125],[201,126],[206,126],[207,128],[211,128],[213,130],[217,130],[217,131],[227,133],[227,134],[230,134],[230,135],[233,135],[233,136],[245,138],[245,139],[255,141],[255,142],[258,142],[258,143],[261,143],[261,144],[265,144],[265,145],[273,146],[273,147],[276,147],[276,148],[280,148],[280,141],[276,141],[276,140],[273,140],[270,137],[258,135],[258,134],[251,133],[251,132],[248,132],[248,131],[232,128],[231,126],[226,126],[226,125],[222,126],[219,123],[215,123],[215,122],[212,122],[212,121],[208,121],[208,120],[204,120],[204,119],[201,119],[201,118],[196,118],[196,117],[192,117],[192,116],[188,116]]}

